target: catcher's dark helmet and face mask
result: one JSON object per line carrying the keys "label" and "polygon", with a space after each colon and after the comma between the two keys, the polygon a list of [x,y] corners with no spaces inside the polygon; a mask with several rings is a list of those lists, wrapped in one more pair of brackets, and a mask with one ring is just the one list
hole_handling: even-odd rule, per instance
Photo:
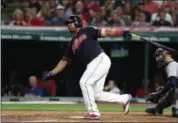
{"label": "catcher's dark helmet and face mask", "polygon": [[155,59],[157,62],[158,67],[162,67],[166,64],[165,58],[166,55],[169,54],[168,51],[162,49],[162,48],[158,48],[155,51]]}

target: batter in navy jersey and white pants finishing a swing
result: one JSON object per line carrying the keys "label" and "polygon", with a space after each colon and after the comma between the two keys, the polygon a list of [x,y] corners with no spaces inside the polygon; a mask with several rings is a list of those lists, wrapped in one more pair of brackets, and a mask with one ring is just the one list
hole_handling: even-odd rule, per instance
{"label": "batter in navy jersey and white pants finishing a swing", "polygon": [[119,29],[97,29],[96,27],[82,27],[80,17],[72,15],[68,18],[67,27],[74,34],[64,57],[57,66],[44,76],[47,79],[50,76],[61,72],[74,57],[77,57],[84,65],[86,70],[80,79],[80,88],[88,111],[84,117],[87,119],[99,119],[100,112],[95,100],[106,102],[117,102],[123,105],[124,113],[129,112],[130,94],[113,94],[104,92],[103,87],[106,76],[111,66],[110,58],[104,53],[98,38],[105,36],[131,36],[129,31]]}

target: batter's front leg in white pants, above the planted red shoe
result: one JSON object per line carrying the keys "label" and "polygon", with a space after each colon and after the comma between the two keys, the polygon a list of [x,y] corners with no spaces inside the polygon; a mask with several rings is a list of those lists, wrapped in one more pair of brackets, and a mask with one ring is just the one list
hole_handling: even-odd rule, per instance
{"label": "batter's front leg in white pants, above the planted red shoe", "polygon": [[106,70],[109,68],[108,65],[104,66],[104,59],[105,58],[101,54],[91,61],[91,63],[87,65],[87,68],[80,79],[80,88],[82,90],[86,109],[89,114],[97,114],[98,116],[100,116],[100,113],[95,103],[93,86],[94,83],[106,74]]}

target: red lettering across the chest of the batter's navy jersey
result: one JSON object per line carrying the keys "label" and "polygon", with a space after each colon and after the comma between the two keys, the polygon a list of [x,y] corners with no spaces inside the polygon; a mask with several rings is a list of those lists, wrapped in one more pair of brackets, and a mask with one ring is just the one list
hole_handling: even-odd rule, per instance
{"label": "red lettering across the chest of the batter's navy jersey", "polygon": [[76,38],[74,40],[74,43],[72,45],[72,51],[75,54],[76,50],[78,49],[78,47],[80,46],[80,44],[87,38],[87,36],[85,34],[82,34],[80,37]]}

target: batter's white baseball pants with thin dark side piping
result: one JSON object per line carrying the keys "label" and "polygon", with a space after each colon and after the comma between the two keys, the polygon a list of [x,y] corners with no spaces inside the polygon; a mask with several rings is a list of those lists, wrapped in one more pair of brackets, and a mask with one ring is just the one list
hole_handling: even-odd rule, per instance
{"label": "batter's white baseball pants with thin dark side piping", "polygon": [[125,94],[120,95],[103,91],[110,66],[110,58],[105,53],[101,53],[87,65],[80,79],[80,88],[88,113],[94,113],[100,116],[95,100],[124,104],[128,99],[128,96]]}

